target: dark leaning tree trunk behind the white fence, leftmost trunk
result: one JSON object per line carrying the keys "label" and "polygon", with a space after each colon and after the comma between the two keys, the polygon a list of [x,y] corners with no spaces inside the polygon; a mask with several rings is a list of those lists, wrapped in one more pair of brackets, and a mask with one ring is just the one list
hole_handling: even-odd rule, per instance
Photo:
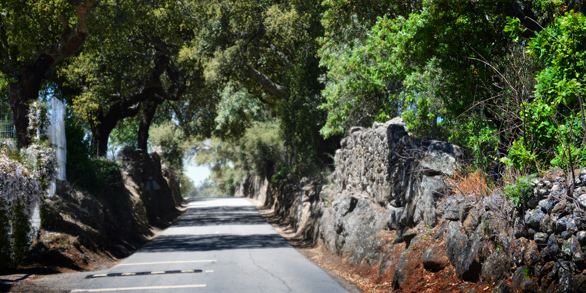
{"label": "dark leaning tree trunk behind the white fence, leftmost trunk", "polygon": [[40,84],[45,73],[53,65],[55,59],[47,54],[41,54],[33,66],[22,67],[18,82],[8,84],[10,105],[14,114],[14,126],[19,147],[30,144],[27,128],[29,127],[29,102],[39,98]]}

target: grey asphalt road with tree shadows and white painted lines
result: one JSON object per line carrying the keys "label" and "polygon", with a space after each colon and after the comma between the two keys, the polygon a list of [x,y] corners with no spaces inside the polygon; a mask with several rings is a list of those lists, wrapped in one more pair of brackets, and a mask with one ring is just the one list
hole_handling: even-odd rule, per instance
{"label": "grey asphalt road with tree shadows and white painted lines", "polygon": [[192,198],[178,222],[124,261],[65,279],[71,292],[348,292],[237,197]]}

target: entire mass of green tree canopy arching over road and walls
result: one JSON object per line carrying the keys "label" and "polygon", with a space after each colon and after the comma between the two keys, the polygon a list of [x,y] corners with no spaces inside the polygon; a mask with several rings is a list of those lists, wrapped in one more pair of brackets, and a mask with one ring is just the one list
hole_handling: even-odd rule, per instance
{"label": "entire mass of green tree canopy arching over road and walls", "polygon": [[54,96],[83,156],[199,150],[228,193],[329,168],[350,127],[396,116],[497,180],[586,162],[577,1],[4,1],[0,21],[21,147]]}

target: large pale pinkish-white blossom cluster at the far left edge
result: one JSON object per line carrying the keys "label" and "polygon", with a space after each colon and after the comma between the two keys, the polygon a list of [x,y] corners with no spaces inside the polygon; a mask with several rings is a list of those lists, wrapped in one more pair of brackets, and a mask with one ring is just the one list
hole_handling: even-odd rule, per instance
{"label": "large pale pinkish-white blossom cluster at the far left edge", "polygon": [[40,181],[26,166],[0,152],[0,213],[12,218],[16,203],[29,217],[43,197]]}

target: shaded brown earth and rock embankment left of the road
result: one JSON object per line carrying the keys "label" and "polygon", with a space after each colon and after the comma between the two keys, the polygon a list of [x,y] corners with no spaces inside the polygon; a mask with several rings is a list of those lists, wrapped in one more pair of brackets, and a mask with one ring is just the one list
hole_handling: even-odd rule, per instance
{"label": "shaded brown earth and rock embankment left of the road", "polygon": [[[80,190],[67,181],[57,184],[56,194],[42,203],[33,266],[107,267],[180,216],[179,181],[156,152],[126,148],[116,164],[120,171],[112,171],[103,190]],[[148,186],[149,181],[157,188]]]}

